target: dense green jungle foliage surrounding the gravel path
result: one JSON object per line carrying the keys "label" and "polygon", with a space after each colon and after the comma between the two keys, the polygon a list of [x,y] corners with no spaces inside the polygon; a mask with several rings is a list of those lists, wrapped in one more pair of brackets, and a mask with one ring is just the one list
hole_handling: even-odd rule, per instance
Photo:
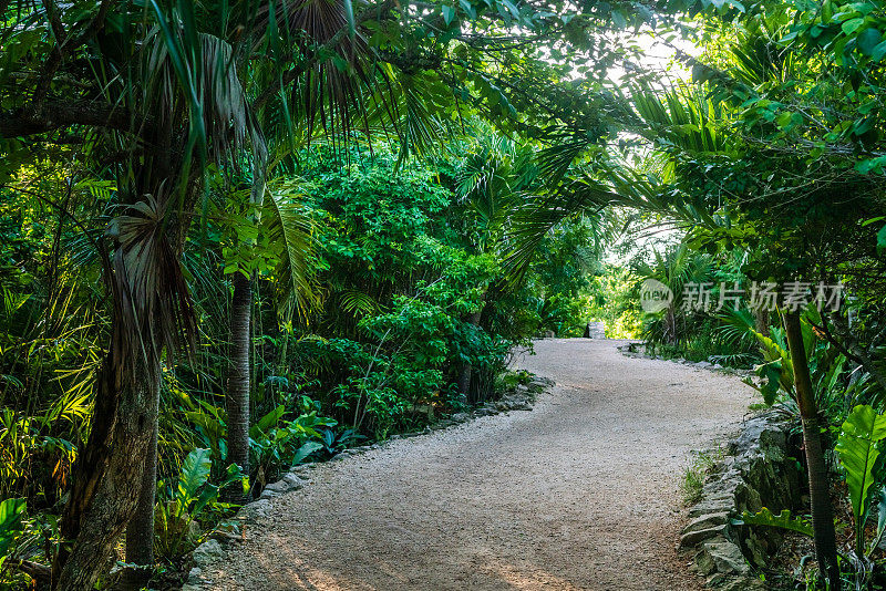
{"label": "dense green jungle foliage surrounding the gravel path", "polygon": [[753,367],[811,526],[746,522],[811,532],[810,584],[876,584],[884,35],[873,0],[0,0],[0,581],[174,579],[289,467],[602,320]]}

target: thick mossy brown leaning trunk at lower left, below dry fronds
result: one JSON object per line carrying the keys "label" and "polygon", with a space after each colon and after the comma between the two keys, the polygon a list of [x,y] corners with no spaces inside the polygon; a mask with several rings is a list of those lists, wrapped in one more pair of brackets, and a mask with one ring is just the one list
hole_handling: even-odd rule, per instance
{"label": "thick mossy brown leaning trunk at lower left, below dry fronds", "polygon": [[78,458],[62,516],[61,535],[66,541],[52,568],[53,588],[61,591],[92,589],[105,571],[114,545],[135,512],[156,425],[157,396],[144,365],[131,383],[124,382],[119,357],[126,348],[121,346],[121,329],[115,326],[102,364],[90,437]]}

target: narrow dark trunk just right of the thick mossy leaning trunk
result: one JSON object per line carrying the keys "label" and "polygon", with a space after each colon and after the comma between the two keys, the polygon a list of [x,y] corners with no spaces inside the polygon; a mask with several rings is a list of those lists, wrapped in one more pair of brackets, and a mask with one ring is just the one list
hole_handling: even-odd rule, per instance
{"label": "narrow dark trunk just right of the thick mossy leaning trunk", "polygon": [[130,568],[123,572],[117,589],[123,591],[137,591],[151,580],[154,568],[154,505],[157,492],[157,431],[159,411],[159,387],[156,388],[157,402],[154,408],[157,411],[153,424],[154,429],[151,434],[145,467],[142,471],[142,489],[138,492],[138,505],[135,515],[132,516],[126,525],[126,562],[137,564],[137,568]]}

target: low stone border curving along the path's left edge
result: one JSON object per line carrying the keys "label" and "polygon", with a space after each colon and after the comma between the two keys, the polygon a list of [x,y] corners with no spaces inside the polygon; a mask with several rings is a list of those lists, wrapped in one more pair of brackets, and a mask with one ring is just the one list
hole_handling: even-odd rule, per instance
{"label": "low stone border curving along the path's left edge", "polygon": [[271,517],[270,499],[303,488],[309,481],[308,473],[316,469],[318,466],[327,464],[328,462],[341,462],[350,456],[359,456],[372,449],[380,449],[391,442],[399,439],[418,437],[419,435],[426,435],[435,431],[470,423],[482,416],[492,416],[511,411],[532,411],[538,394],[553,386],[553,380],[533,376],[528,384],[518,384],[513,391],[504,394],[497,401],[487,402],[473,408],[471,412],[456,413],[449,418],[429,425],[423,431],[392,435],[380,443],[344,449],[327,462],[311,462],[293,467],[286,473],[281,479],[266,486],[258,497],[258,500],[244,505],[240,510],[237,511],[237,515],[227,521],[227,528],[223,527],[213,530],[208,535],[208,539],[194,549],[190,554],[190,563],[193,567],[188,571],[187,581],[182,587],[182,591],[204,591],[212,589],[212,581],[207,581],[203,578],[203,569],[210,562],[224,557],[226,545],[243,541],[243,536],[240,533],[241,525],[257,523],[261,520],[269,519]]}

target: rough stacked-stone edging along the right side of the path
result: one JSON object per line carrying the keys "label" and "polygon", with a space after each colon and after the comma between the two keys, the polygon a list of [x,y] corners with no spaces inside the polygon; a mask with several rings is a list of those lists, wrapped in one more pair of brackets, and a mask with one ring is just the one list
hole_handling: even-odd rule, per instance
{"label": "rough stacked-stone edging along the right side of the path", "polygon": [[746,421],[730,442],[728,457],[689,509],[680,549],[694,552],[693,566],[708,587],[721,591],[765,589],[753,570],[766,564],[782,535],[775,528],[733,525],[742,511],[794,509],[802,495],[802,474],[791,447],[790,422],[777,412]]}

